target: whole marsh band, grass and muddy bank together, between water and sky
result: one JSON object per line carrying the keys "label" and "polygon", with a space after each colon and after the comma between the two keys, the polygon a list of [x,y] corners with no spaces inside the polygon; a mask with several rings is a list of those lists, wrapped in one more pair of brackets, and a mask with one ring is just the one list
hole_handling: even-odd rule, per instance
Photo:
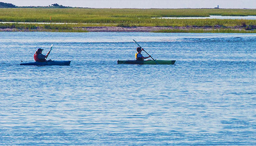
{"label": "whole marsh band, grass and muddy bank together, between water and sky", "polygon": [[256,15],[256,9],[0,8],[0,31],[256,33],[256,20],[153,19],[210,15]]}

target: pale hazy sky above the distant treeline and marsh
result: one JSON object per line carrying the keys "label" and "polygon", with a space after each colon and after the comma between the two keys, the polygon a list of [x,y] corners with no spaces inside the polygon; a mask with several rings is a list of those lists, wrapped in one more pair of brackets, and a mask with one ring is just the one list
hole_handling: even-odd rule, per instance
{"label": "pale hazy sky above the distant treeline and marsh", "polygon": [[91,8],[256,8],[256,0],[0,0],[16,6],[63,6]]}

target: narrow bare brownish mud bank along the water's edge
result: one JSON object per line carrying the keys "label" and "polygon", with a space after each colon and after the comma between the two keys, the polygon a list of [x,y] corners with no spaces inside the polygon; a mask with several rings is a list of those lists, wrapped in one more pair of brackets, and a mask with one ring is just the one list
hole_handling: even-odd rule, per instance
{"label": "narrow bare brownish mud bank along the water's edge", "polygon": [[[252,27],[256,29],[256,26]],[[117,27],[117,26],[93,26],[93,27],[74,27],[73,30],[80,32],[156,32],[160,30],[219,30],[219,29],[232,29],[232,30],[245,30],[246,26],[138,26],[138,27]],[[37,29],[15,29],[15,28],[4,28],[0,29],[0,32],[60,32],[61,30],[47,30],[42,28]],[[69,32],[63,30],[63,32]],[[72,30],[71,30],[72,32]]]}

